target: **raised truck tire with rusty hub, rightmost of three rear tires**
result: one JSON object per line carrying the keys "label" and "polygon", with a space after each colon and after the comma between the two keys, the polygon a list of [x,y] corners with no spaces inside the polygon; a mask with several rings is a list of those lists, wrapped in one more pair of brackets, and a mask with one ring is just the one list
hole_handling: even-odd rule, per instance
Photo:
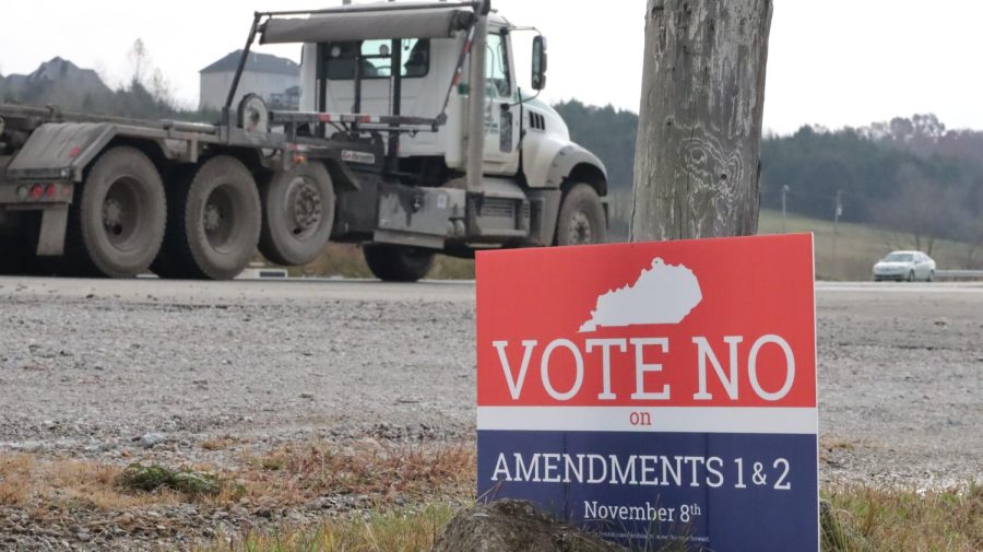
{"label": "raised truck tire with rusty hub, rightmost of three rear tires", "polygon": [[313,261],[334,224],[334,188],[320,163],[304,164],[274,174],[260,187],[263,227],[260,252],[285,266]]}

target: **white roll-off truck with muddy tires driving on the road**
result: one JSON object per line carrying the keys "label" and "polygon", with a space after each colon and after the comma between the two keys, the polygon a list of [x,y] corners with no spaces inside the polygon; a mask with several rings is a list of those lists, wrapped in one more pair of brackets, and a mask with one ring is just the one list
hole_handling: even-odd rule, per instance
{"label": "white roll-off truck with muddy tires driving on the road", "polygon": [[[603,242],[604,165],[533,96],[545,39],[521,91],[530,30],[490,8],[257,13],[217,124],[0,105],[0,268],[221,280],[340,242],[415,281],[439,252]],[[298,111],[232,105],[257,39],[303,45]]]}

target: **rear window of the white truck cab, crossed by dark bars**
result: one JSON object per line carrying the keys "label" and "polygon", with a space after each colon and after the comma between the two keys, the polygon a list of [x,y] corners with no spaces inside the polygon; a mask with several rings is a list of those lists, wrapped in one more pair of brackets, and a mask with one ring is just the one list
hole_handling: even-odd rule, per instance
{"label": "rear window of the white truck cab, crossed by dark bars", "polygon": [[[430,40],[428,38],[403,38],[400,74],[405,78],[426,77],[430,71]],[[388,79],[392,77],[392,40],[364,40],[362,43],[335,43],[328,45],[328,78],[333,81],[355,78],[355,54],[360,54],[359,67],[363,79]]]}

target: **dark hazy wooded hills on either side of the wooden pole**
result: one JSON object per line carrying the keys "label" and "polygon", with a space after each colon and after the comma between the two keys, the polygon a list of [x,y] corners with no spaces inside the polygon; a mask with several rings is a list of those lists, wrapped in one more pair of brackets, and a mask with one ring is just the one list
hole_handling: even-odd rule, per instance
{"label": "dark hazy wooded hills on either side of the wooden pole", "polygon": [[[638,116],[576,99],[554,106],[573,140],[607,166],[612,187],[633,181]],[[761,144],[761,207],[934,238],[983,243],[983,132],[948,130],[935,115],[866,127],[805,126]]]}

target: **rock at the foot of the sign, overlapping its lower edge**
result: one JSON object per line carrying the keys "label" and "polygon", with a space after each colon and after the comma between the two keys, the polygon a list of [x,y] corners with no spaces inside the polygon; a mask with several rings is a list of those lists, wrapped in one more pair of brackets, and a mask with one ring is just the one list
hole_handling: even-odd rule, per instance
{"label": "rock at the foot of the sign, overlapping its lower edge", "polygon": [[451,519],[431,552],[625,552],[524,501],[478,504]]}

